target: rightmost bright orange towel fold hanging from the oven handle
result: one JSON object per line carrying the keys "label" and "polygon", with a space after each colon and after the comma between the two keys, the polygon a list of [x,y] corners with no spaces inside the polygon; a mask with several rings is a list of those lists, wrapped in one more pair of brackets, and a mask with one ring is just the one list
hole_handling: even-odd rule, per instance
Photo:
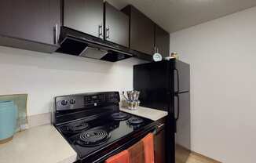
{"label": "rightmost bright orange towel fold hanging from the oven handle", "polygon": [[154,163],[154,135],[149,133],[142,139],[144,144],[144,163]]}

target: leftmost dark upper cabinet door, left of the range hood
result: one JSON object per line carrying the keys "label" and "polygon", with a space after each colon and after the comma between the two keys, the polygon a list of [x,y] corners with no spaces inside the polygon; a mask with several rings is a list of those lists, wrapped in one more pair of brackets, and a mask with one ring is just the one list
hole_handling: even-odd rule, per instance
{"label": "leftmost dark upper cabinet door, left of the range hood", "polygon": [[2,0],[0,34],[46,44],[56,43],[60,27],[58,0]]}

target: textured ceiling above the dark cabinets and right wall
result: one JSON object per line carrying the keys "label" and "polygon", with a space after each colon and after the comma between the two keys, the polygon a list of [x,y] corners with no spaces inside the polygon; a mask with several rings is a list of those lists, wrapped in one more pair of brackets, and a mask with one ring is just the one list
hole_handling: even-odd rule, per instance
{"label": "textured ceiling above the dark cabinets and right wall", "polygon": [[256,6],[256,0],[107,0],[133,5],[166,31],[174,32]]}

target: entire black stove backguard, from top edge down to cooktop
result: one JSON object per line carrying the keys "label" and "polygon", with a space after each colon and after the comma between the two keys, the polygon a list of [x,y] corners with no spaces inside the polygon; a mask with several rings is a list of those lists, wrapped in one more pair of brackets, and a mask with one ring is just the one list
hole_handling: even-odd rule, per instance
{"label": "entire black stove backguard, from top edge down to cooktop", "polygon": [[89,118],[119,110],[119,92],[90,92],[57,96],[53,112],[53,124]]}

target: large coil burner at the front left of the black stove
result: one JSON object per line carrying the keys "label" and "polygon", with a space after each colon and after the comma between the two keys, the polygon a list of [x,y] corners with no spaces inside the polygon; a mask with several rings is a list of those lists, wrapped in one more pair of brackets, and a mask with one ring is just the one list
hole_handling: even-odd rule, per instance
{"label": "large coil burner at the front left of the black stove", "polygon": [[84,147],[95,147],[101,145],[110,138],[110,134],[104,129],[90,129],[82,132],[79,139],[76,141]]}

